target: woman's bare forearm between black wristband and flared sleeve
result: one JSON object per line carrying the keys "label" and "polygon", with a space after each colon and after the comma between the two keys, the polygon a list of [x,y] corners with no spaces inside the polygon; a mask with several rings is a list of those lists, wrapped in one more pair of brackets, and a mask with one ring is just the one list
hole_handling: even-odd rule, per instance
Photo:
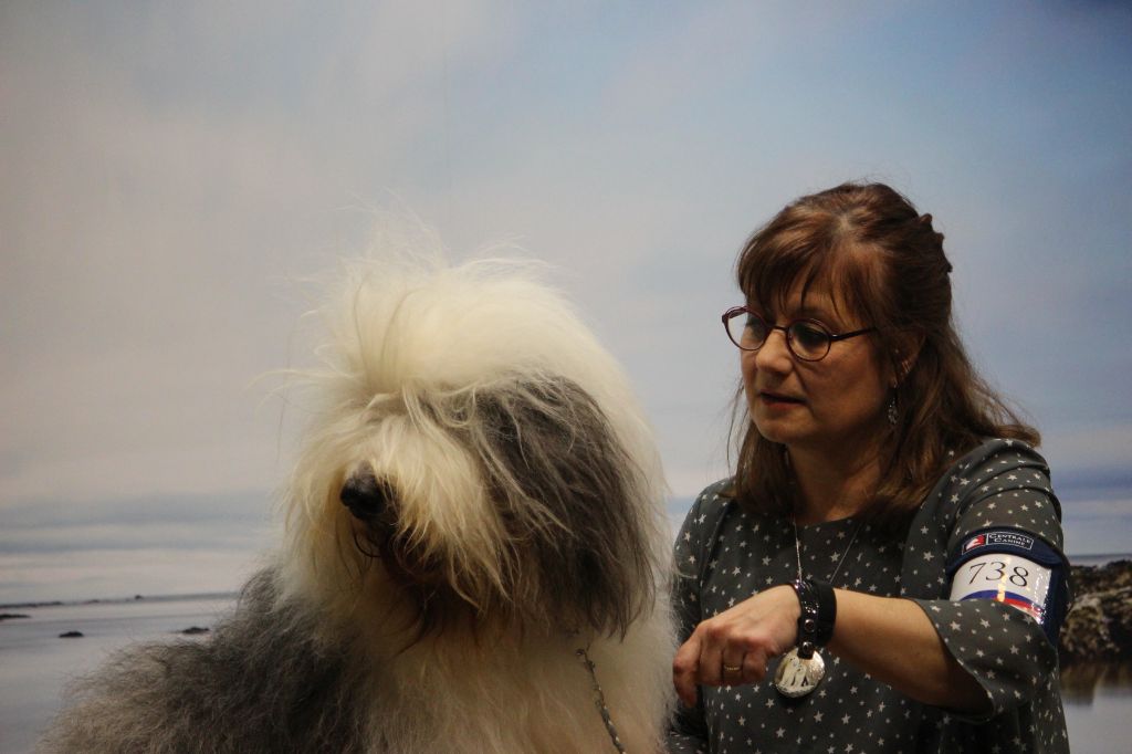
{"label": "woman's bare forearm between black wristband and flared sleeve", "polygon": [[986,692],[951,656],[918,605],[834,591],[838,614],[831,653],[925,704],[989,711]]}

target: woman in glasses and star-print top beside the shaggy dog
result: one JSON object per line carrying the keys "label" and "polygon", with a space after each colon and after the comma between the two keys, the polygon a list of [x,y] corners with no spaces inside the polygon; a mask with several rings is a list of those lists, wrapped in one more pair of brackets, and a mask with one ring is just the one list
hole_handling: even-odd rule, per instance
{"label": "woman in glasses and star-print top beside the shaggy dog", "polygon": [[745,428],[677,539],[670,752],[1069,751],[1060,505],[963,352],[942,241],[847,183],[744,248]]}

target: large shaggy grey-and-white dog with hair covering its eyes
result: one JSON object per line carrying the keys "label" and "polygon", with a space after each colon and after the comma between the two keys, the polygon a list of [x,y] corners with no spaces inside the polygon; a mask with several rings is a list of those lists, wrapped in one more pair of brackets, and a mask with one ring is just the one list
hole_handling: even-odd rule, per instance
{"label": "large shaggy grey-and-white dog with hair covering its eyes", "polygon": [[63,752],[657,752],[661,474],[530,265],[358,260],[321,309],[286,538],[212,636],[74,691]]}

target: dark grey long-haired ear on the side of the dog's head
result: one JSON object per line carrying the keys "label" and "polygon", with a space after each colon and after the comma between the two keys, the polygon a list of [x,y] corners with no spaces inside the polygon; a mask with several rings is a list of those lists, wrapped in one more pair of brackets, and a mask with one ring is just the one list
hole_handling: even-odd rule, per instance
{"label": "dark grey long-haired ear on the side of the dog's head", "polygon": [[[477,443],[516,559],[516,599],[568,629],[624,634],[651,602],[653,562],[641,520],[641,470],[594,400],[569,380],[479,395]],[[534,580],[533,582],[531,580]],[[523,605],[516,606],[520,610]]]}

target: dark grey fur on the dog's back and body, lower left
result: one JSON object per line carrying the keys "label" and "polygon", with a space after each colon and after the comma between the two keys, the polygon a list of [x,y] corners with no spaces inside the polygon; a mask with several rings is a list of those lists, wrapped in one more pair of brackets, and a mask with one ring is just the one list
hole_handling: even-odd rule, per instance
{"label": "dark grey fur on the dog's back and body, lower left", "polygon": [[257,574],[205,641],[121,650],[76,684],[52,752],[363,752],[367,676]]}

